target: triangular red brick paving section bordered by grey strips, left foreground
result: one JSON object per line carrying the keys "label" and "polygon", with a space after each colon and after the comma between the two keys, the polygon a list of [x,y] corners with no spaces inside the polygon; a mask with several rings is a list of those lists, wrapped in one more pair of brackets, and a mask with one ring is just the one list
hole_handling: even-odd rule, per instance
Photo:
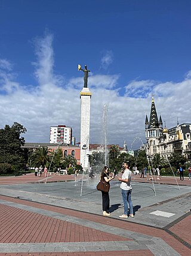
{"label": "triangular red brick paving section bordered by grey strips, left foreground", "polygon": [[1,243],[56,243],[131,240],[60,219],[0,204]]}

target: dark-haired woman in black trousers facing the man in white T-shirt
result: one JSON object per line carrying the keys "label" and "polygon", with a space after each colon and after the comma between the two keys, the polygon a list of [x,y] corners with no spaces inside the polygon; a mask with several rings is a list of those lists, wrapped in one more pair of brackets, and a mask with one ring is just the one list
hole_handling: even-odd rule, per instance
{"label": "dark-haired woman in black trousers facing the man in white T-shirt", "polygon": [[[109,184],[110,180],[114,179],[115,176],[109,176],[109,167],[104,166],[101,172],[101,179],[105,180]],[[102,195],[102,209],[103,209],[103,216],[110,216],[109,211],[109,191],[103,192],[101,191]]]}

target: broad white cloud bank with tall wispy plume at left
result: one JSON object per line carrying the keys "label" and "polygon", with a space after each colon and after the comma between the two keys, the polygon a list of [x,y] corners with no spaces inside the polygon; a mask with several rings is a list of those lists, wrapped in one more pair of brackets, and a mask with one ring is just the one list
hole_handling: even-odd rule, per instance
{"label": "broad white cloud bank with tall wispy plume at left", "polygon": [[[36,41],[35,76],[38,86],[19,84],[11,69],[0,70],[0,120],[5,124],[19,122],[27,128],[24,135],[28,142],[48,142],[50,126],[67,125],[73,128],[73,135],[80,136],[80,98],[83,75],[64,82],[54,73],[53,36],[46,35]],[[3,62],[1,62],[3,63]],[[4,62],[6,63],[6,62]],[[7,67],[9,66],[7,62]],[[144,121],[150,115],[152,94],[158,116],[166,121],[167,127],[190,121],[191,79],[182,82],[160,83],[153,80],[133,80],[126,86],[124,96],[119,95],[116,85],[119,75],[93,75],[88,79],[91,98],[91,143],[101,143],[101,119],[104,104],[108,105],[108,141],[122,144],[127,141],[131,147],[135,137],[144,141]],[[140,146],[135,140],[133,149]]]}

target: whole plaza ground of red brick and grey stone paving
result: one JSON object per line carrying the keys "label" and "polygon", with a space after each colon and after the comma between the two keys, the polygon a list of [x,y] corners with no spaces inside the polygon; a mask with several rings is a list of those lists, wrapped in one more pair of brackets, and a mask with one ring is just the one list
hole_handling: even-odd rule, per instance
{"label": "whole plaza ground of red brick and grey stone paving", "polygon": [[135,217],[124,220],[117,180],[111,182],[111,217],[104,217],[97,179],[84,176],[83,186],[81,179],[0,177],[0,256],[190,255],[187,178],[162,177],[153,185],[134,176]]}

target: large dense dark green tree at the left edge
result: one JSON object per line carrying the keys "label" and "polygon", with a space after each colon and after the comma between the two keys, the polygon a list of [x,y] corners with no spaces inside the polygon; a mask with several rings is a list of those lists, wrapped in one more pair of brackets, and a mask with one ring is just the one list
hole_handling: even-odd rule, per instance
{"label": "large dense dark green tree at the left edge", "polygon": [[5,125],[4,129],[0,129],[0,164],[10,164],[12,171],[23,169],[26,165],[26,150],[21,148],[25,141],[20,137],[25,132],[26,128],[17,122],[12,127]]}

